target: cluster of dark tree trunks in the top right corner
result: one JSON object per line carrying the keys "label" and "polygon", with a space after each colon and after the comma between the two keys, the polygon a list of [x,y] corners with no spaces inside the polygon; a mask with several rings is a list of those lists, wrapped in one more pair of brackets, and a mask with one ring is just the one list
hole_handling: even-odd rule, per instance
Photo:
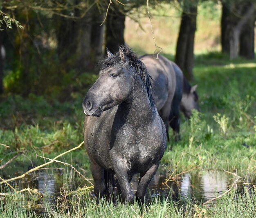
{"label": "cluster of dark tree trunks in the top right corner", "polygon": [[253,0],[223,0],[221,19],[222,52],[231,59],[238,54],[254,58],[254,23],[256,2]]}

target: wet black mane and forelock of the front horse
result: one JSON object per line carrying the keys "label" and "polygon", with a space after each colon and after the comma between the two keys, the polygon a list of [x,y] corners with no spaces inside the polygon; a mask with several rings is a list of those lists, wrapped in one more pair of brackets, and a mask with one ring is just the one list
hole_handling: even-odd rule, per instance
{"label": "wet black mane and forelock of the front horse", "polygon": [[[154,103],[152,96],[152,86],[150,82],[150,79],[152,79],[152,77],[149,75],[148,70],[144,63],[141,60],[139,60],[138,56],[134,53],[134,51],[132,51],[132,49],[130,49],[130,47],[125,45],[122,47],[122,49],[129,60],[130,67],[133,67],[133,79],[136,80],[138,76],[141,78],[142,89],[146,91],[146,93],[148,93],[148,98],[150,104],[152,105]],[[115,53],[115,55],[103,59],[101,70],[106,70],[109,67],[120,64],[121,62],[122,61],[119,52],[117,52]]]}

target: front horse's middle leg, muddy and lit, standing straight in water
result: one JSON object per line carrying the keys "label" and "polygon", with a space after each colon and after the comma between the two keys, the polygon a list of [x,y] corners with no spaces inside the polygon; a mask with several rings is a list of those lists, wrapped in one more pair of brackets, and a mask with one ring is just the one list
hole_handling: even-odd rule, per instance
{"label": "front horse's middle leg, muddy and lit, standing straight in water", "polygon": [[124,202],[133,202],[134,194],[130,186],[131,178],[128,175],[130,169],[127,167],[127,162],[124,158],[118,156],[117,152],[112,149],[110,157],[113,161],[113,168],[117,176],[117,180],[121,189],[121,197]]}

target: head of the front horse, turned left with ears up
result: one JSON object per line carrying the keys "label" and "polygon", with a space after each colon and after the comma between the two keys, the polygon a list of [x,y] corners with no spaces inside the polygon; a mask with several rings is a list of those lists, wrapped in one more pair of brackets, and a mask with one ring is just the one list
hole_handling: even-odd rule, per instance
{"label": "head of the front horse, turned left with ears up", "polygon": [[132,65],[119,47],[115,55],[107,49],[99,78],[83,100],[83,110],[88,116],[101,116],[106,111],[124,102],[132,90]]}

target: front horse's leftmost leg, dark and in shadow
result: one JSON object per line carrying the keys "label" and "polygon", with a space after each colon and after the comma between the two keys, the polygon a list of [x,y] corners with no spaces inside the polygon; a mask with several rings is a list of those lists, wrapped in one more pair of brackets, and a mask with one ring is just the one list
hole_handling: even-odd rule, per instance
{"label": "front horse's leftmost leg, dark and in shadow", "polygon": [[94,179],[94,194],[97,197],[99,203],[100,197],[103,198],[106,194],[106,186],[104,180],[104,169],[101,168],[97,163],[91,163],[92,177]]}

